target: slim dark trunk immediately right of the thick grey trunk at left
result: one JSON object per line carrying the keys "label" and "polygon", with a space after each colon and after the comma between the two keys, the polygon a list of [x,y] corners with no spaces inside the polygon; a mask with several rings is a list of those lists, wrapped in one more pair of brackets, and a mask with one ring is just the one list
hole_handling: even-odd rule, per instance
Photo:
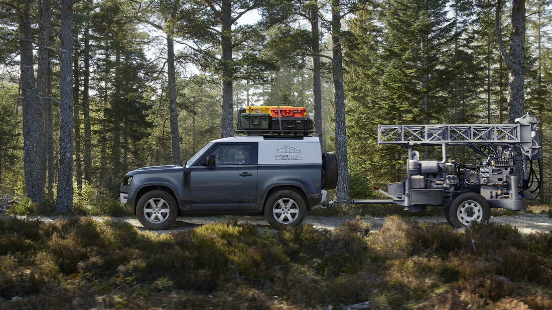
{"label": "slim dark trunk immediately right of the thick grey trunk at left", "polygon": [[[77,38],[78,40],[78,34]],[[75,40],[75,43],[78,41]],[[80,84],[80,72],[78,68],[78,51],[75,48],[75,56],[73,57],[73,143],[75,144],[75,170],[77,178],[77,187],[82,189],[82,159],[81,159],[81,116],[79,108],[79,90]]]}

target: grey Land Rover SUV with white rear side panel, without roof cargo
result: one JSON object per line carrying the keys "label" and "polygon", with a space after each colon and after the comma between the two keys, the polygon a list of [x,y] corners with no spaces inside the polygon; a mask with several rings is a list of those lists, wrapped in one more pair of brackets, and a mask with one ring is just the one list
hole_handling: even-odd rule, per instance
{"label": "grey Land Rover SUV with white rear side panel, without roof cargo", "polygon": [[126,173],[120,199],[151,230],[178,215],[264,214],[282,228],[301,224],[336,184],[336,156],[318,137],[238,136],[211,141],[182,166]]}

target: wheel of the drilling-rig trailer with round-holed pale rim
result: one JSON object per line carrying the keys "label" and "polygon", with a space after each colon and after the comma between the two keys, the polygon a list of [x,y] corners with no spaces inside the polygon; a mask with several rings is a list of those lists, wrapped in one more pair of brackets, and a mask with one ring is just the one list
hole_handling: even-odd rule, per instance
{"label": "wheel of the drilling-rig trailer with round-holed pale rim", "polygon": [[[447,210],[445,208],[445,210]],[[459,195],[448,210],[450,224],[456,228],[470,225],[471,222],[488,222],[491,208],[487,199],[477,193]]]}

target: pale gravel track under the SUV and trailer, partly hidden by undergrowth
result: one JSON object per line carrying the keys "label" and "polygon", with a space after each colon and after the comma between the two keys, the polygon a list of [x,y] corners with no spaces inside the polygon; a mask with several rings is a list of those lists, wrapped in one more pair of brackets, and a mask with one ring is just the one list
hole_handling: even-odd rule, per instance
{"label": "pale gravel track under the SUV and trailer, partly hidden by undergrowth", "polygon": [[[0,215],[0,217],[7,217],[8,215]],[[24,216],[19,216],[20,218],[25,218]],[[28,219],[37,219],[43,220],[45,222],[54,221],[57,217],[54,216],[26,216]],[[93,216],[94,219],[103,220],[105,217]],[[448,225],[447,220],[444,216],[433,216],[433,217],[410,217],[418,221],[426,222],[439,222],[443,225]],[[307,215],[305,222],[311,224],[312,226],[320,229],[333,230],[337,226],[343,224],[344,221],[348,219],[354,219],[354,217],[335,217],[335,216],[309,216]],[[383,224],[385,217],[361,217],[361,219],[369,224],[371,224],[371,229],[377,230]],[[128,222],[129,224],[137,227],[139,230],[144,230],[140,222],[136,219],[135,216],[126,216],[126,217],[113,217],[114,221],[123,221]],[[262,216],[201,216],[201,217],[178,217],[176,223],[171,227],[171,230],[160,230],[156,231],[159,234],[168,233],[168,232],[177,232],[193,229],[199,227],[203,224],[211,224],[215,222],[226,222],[237,220],[240,223],[250,223],[257,226],[259,229],[265,229],[266,227],[270,229],[267,221],[264,220]],[[550,231],[552,230],[552,219],[547,215],[543,214],[520,214],[514,216],[499,216],[491,217],[491,222],[497,223],[509,223],[513,226],[518,227],[519,231],[523,233],[531,233],[537,231]]]}

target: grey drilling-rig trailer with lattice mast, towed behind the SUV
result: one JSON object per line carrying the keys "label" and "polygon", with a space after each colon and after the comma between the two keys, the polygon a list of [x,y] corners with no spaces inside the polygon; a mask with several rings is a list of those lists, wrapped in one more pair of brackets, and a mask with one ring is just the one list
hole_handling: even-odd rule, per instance
{"label": "grey drilling-rig trailer with lattice mast, towed behind the SUV", "polygon": [[[406,180],[388,184],[387,191],[374,187],[389,199],[328,205],[399,204],[411,212],[444,206],[445,218],[454,227],[489,221],[490,208],[521,210],[522,198],[537,198],[542,182],[537,124],[537,118],[527,113],[514,124],[379,125],[378,144],[408,149]],[[447,160],[448,145],[469,146],[484,160],[480,165]],[[415,146],[441,146],[442,159],[420,160]]]}

